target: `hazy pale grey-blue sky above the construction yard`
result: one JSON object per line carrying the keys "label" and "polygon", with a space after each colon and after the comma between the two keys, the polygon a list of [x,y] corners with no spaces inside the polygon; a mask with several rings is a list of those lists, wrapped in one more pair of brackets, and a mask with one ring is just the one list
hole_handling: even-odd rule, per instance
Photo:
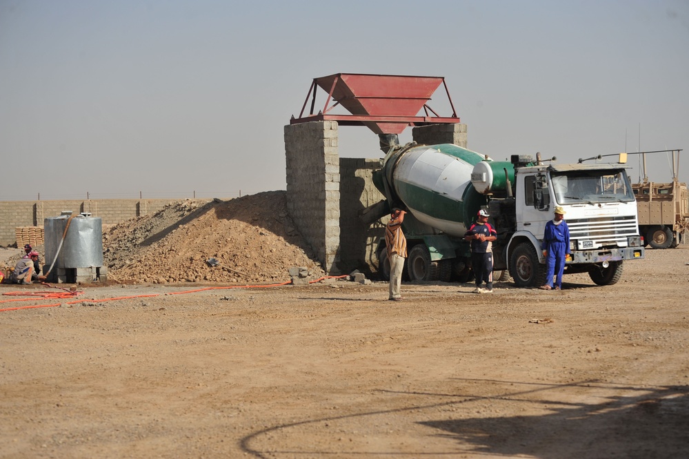
{"label": "hazy pale grey-blue sky above the construction yard", "polygon": [[445,77],[499,160],[635,152],[639,126],[641,150],[689,149],[687,0],[0,0],[0,200],[283,190],[283,126],[339,72]]}

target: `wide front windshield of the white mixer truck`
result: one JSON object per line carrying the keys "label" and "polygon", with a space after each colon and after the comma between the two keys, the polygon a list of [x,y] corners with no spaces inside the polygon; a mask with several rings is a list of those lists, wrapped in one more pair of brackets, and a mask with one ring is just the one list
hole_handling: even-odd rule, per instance
{"label": "wide front windshield of the white mixer truck", "polygon": [[550,177],[558,204],[634,201],[624,170],[571,170]]}

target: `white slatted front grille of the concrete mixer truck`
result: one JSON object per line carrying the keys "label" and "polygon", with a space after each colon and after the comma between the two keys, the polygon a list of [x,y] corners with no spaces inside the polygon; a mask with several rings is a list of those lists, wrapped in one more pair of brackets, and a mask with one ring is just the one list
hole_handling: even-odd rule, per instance
{"label": "white slatted front grille of the concrete mixer truck", "polygon": [[570,240],[590,240],[597,247],[627,246],[627,237],[639,234],[637,219],[625,217],[597,217],[567,220]]}

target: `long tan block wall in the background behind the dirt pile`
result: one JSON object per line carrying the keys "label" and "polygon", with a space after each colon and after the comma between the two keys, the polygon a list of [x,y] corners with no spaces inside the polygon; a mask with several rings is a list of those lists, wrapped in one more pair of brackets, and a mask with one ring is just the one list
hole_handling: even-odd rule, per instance
{"label": "long tan block wall in the background behind the dirt pile", "polygon": [[[43,227],[43,220],[58,217],[62,211],[74,214],[91,213],[100,217],[103,224],[117,224],[132,217],[155,213],[170,202],[180,199],[80,199],[64,201],[6,201],[0,202],[0,246],[17,242],[15,228]],[[194,199],[206,202],[208,199]]]}

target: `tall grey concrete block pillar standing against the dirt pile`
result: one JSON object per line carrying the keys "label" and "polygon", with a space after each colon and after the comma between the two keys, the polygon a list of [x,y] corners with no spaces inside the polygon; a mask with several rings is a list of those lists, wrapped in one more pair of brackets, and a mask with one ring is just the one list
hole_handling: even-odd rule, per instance
{"label": "tall grey concrete block pillar standing against the dirt pile", "polygon": [[337,121],[285,126],[287,206],[323,269],[339,274],[340,167]]}

